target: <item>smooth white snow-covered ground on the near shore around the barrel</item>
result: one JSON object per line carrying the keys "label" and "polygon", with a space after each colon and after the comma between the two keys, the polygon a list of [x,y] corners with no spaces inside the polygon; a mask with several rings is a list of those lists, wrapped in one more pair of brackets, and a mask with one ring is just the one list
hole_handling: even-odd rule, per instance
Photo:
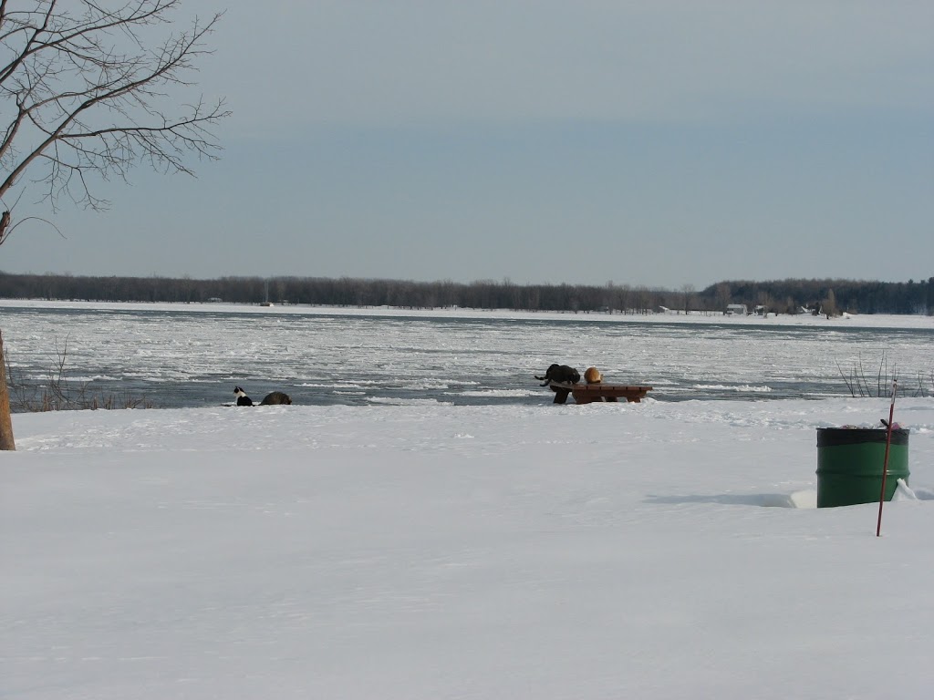
{"label": "smooth white snow-covered ground on the near shore around the barrel", "polygon": [[[18,414],[0,696],[927,698],[911,491],[815,509],[887,399]],[[913,496],[913,497],[912,497]]]}

